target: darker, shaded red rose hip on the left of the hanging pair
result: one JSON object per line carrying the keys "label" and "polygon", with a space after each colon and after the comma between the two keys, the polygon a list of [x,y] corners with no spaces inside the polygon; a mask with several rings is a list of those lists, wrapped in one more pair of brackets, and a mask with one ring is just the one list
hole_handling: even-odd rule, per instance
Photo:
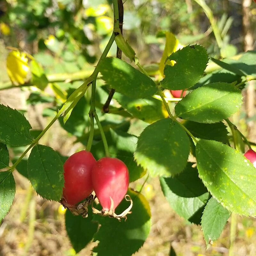
{"label": "darker, shaded red rose hip on the left of the hanging pair", "polygon": [[64,163],[63,197],[68,204],[77,204],[92,193],[92,166],[95,163],[92,153],[85,150],[73,154]]}

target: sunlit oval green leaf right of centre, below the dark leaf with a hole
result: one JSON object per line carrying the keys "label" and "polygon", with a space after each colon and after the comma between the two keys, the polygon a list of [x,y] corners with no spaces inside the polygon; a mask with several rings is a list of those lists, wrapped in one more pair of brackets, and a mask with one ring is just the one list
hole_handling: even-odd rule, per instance
{"label": "sunlit oval green leaf right of centre, below the dark leaf with a hole", "polygon": [[231,84],[207,84],[190,92],[175,106],[176,116],[199,123],[216,123],[242,106],[241,91]]}

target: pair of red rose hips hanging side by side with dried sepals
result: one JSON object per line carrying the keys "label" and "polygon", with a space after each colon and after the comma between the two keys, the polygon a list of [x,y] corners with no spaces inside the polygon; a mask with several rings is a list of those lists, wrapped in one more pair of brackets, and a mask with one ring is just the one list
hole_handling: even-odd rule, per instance
{"label": "pair of red rose hips hanging side by side with dried sepals", "polygon": [[115,211],[127,192],[129,172],[117,158],[103,157],[96,161],[91,152],[82,150],[70,156],[63,167],[63,198],[70,205],[84,200],[94,190],[102,212]]}

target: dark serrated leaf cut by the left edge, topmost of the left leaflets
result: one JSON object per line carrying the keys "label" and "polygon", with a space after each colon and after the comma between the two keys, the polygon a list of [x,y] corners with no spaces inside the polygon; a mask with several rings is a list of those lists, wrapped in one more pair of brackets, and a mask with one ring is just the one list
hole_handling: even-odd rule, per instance
{"label": "dark serrated leaf cut by the left edge, topmost of the left leaflets", "polygon": [[31,128],[19,111],[0,104],[0,142],[13,147],[28,145],[32,142]]}

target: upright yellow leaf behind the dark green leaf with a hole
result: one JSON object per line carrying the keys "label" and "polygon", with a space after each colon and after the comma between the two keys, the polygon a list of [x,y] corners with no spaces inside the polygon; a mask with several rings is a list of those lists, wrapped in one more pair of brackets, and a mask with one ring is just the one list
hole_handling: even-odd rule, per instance
{"label": "upright yellow leaf behind the dark green leaf with a hole", "polygon": [[166,31],[165,36],[166,36],[166,41],[165,41],[164,52],[159,64],[159,71],[162,76],[164,76],[165,64],[171,65],[171,66],[175,64],[175,61],[173,60],[171,61],[168,60],[168,62],[165,63],[166,58],[170,56],[173,52],[176,52],[179,49],[184,47],[184,45],[180,44],[179,40],[171,32]]}

